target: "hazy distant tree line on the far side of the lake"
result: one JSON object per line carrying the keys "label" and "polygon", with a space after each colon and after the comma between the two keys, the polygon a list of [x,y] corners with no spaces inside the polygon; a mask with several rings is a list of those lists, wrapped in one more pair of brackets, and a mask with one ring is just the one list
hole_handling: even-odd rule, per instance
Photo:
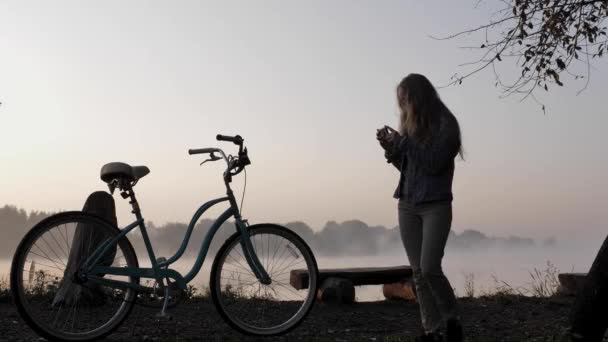
{"label": "hazy distant tree line on the far side of the lake", "polygon": [[[25,233],[36,223],[53,213],[30,211],[12,205],[0,207],[0,258],[10,259],[17,244]],[[201,243],[209,231],[213,220],[200,220],[192,233],[186,249],[186,256],[195,256]],[[147,222],[148,233],[158,256],[171,256],[179,248],[187,231],[186,223],[169,222],[155,225]],[[322,256],[374,256],[403,252],[399,227],[369,226],[360,220],[349,220],[341,223],[329,221],[322,229],[315,230],[301,221],[286,223],[285,226],[300,235],[313,249],[315,254]],[[211,253],[217,251],[221,244],[234,232],[233,222],[226,222],[218,230],[211,245]],[[145,251],[141,235],[137,232],[129,234],[133,246],[140,252]],[[555,239],[547,239],[537,243],[533,239],[509,236],[487,236],[477,230],[464,230],[461,233],[450,232],[448,249],[466,250],[473,248],[530,248],[534,246],[553,246]],[[141,254],[145,256],[146,254]]]}

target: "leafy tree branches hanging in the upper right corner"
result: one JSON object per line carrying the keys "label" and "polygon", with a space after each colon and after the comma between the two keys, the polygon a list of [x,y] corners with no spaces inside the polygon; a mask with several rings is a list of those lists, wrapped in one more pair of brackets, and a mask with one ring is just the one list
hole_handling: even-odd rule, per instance
{"label": "leafy tree branches hanging in the upper right corner", "polygon": [[[500,2],[504,7],[487,24],[438,38],[481,35],[479,45],[468,47],[481,50],[481,57],[464,64],[471,69],[464,74],[454,74],[451,85],[461,84],[464,79],[491,68],[495,85],[502,88],[505,96],[534,97],[534,91],[539,87],[549,90],[549,84],[562,86],[564,73],[574,79],[586,78],[587,87],[591,59],[608,53],[606,26],[603,26],[608,17],[608,0]],[[496,70],[497,63],[508,60],[521,69],[515,77],[505,77]],[[577,68],[577,64],[584,68]]]}

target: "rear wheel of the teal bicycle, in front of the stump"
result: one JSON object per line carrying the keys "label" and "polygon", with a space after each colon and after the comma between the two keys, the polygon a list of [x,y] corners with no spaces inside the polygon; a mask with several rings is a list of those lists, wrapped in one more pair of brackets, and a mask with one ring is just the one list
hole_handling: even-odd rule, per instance
{"label": "rear wheel of the teal bicycle, in front of the stump", "polygon": [[[13,258],[11,291],[19,313],[34,331],[50,340],[85,341],[106,336],[122,323],[133,307],[135,290],[75,277],[86,257],[119,233],[97,216],[66,212],[43,220],[26,234]],[[138,267],[126,237],[98,265]],[[103,278],[139,282],[132,276]]]}

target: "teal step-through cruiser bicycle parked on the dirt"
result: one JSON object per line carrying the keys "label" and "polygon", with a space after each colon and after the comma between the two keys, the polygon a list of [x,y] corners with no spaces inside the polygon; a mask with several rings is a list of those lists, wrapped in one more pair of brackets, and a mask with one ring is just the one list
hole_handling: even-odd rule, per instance
{"label": "teal step-through cruiser bicycle parked on the dirt", "polygon": [[[218,135],[217,140],[238,145],[238,156],[227,156],[219,148],[190,149],[189,154],[208,155],[201,165],[222,159],[226,162],[226,196],[200,206],[179,249],[169,259],[156,257],[135,198],[133,187],[149,173],[145,166],[109,163],[102,167],[101,179],[110,192],[118,188],[132,206],[136,219],[123,229],[78,211],[59,213],[35,225],[20,242],[11,266],[11,290],[26,323],[47,339],[84,341],[111,334],[138,300],[157,298],[162,301],[158,315],[166,316],[166,310],[178,304],[187,284],[200,271],[215,233],[233,217],[236,233],[221,246],[211,267],[209,289],[217,311],[231,327],[248,335],[280,335],[300,324],[310,312],[318,288],[315,257],[304,240],[288,228],[269,223],[249,225],[241,217],[230,183],[251,164],[247,148],[239,135]],[[223,202],[229,207],[207,232],[192,269],[182,276],[169,268],[184,254],[203,213]],[[126,236],[137,227],[150,268],[139,267]],[[305,286],[290,284],[296,267],[308,272]],[[142,278],[154,280],[154,285],[141,285]]]}

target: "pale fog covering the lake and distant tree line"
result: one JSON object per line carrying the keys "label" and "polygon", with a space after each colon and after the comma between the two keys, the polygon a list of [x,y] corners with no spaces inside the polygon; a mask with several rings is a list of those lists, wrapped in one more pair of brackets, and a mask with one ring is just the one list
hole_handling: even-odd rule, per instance
{"label": "pale fog covering the lake and distant tree line", "polygon": [[[7,278],[10,259],[19,240],[38,220],[49,213],[30,212],[13,206],[0,208],[0,278]],[[201,241],[212,221],[201,220],[195,227],[183,259],[173,268],[185,274],[193,264]],[[368,226],[362,221],[342,223],[329,221],[321,229],[313,229],[304,222],[288,222],[287,227],[302,236],[313,249],[319,268],[380,267],[407,265],[407,257],[398,227]],[[148,223],[149,234],[157,256],[170,257],[179,247],[186,232],[186,224],[169,223],[155,226]],[[199,289],[207,286],[209,268],[221,243],[234,233],[234,225],[225,223],[215,236],[203,269],[193,281]],[[129,234],[140,261],[149,265],[141,236]],[[530,272],[544,270],[550,262],[561,272],[586,272],[599,250],[601,239],[566,239],[547,237],[535,241],[526,237],[486,236],[482,232],[452,231],[443,260],[443,268],[457,295],[464,295],[465,277],[474,277],[477,294],[491,291],[504,283],[514,288],[529,287]],[[497,284],[496,282],[499,282]],[[504,282],[504,283],[503,283]],[[357,288],[358,300],[382,298],[379,286]]]}

